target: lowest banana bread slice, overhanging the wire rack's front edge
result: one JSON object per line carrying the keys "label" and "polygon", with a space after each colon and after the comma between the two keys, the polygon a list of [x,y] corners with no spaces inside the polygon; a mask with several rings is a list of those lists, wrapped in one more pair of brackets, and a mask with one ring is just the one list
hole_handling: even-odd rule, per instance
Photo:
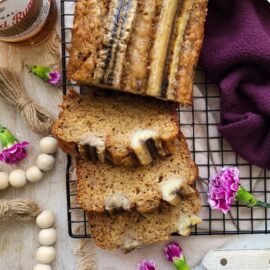
{"label": "lowest banana bread slice, overhanging the wire rack's front edge", "polygon": [[154,244],[170,239],[171,234],[190,234],[191,227],[201,222],[196,215],[201,209],[197,192],[181,200],[177,206],[162,203],[161,207],[149,214],[137,211],[89,213],[90,232],[98,247],[129,252],[142,245]]}

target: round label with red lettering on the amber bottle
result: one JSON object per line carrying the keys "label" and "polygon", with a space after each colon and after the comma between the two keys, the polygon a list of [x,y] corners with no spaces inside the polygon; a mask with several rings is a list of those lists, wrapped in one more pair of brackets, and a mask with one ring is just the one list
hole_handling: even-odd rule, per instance
{"label": "round label with red lettering on the amber bottle", "polygon": [[50,0],[0,0],[0,40],[21,42],[36,35],[46,22],[50,5]]}

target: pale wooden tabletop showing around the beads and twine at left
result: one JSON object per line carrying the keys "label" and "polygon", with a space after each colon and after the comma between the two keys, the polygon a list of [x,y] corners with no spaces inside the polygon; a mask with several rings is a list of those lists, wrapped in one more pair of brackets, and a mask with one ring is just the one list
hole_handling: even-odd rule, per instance
{"label": "pale wooden tabletop showing around the beads and twine at left", "polygon": [[[17,48],[0,43],[0,66],[20,72],[28,94],[38,104],[46,107],[54,118],[58,114],[58,104],[62,99],[61,88],[48,86],[39,78],[29,74],[23,65],[59,64],[60,50],[59,46],[56,46],[55,37],[54,33],[46,44],[35,48]],[[58,50],[58,53],[53,53],[55,49]],[[29,156],[18,167],[27,169],[34,165],[40,153],[39,140],[41,136],[26,128],[15,107],[5,104],[2,100],[0,100],[0,123],[12,130],[19,140],[30,142]],[[26,187],[18,190],[9,188],[7,191],[0,191],[0,198],[32,199],[38,202],[42,208],[52,210],[56,215],[58,232],[57,259],[53,269],[74,270],[76,266],[73,249],[76,241],[68,236],[67,230],[65,165],[66,155],[59,150],[55,169],[47,173],[42,182],[27,184]],[[8,172],[15,168],[16,166],[0,163],[0,171]],[[31,270],[33,268],[36,263],[38,231],[35,222],[27,224],[0,222],[0,270]]]}

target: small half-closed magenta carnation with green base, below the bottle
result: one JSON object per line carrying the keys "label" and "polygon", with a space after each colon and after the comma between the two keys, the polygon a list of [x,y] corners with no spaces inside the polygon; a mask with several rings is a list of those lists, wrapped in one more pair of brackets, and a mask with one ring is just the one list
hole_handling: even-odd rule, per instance
{"label": "small half-closed magenta carnation with green base, below the bottle", "polygon": [[62,83],[62,77],[59,71],[53,70],[51,67],[44,66],[30,66],[27,65],[30,73],[33,73],[43,81],[58,86]]}

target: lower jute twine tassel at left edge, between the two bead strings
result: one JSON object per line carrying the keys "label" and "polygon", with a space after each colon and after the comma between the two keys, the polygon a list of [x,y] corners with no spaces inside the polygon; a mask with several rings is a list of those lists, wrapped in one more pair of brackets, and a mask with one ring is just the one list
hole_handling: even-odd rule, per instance
{"label": "lower jute twine tassel at left edge, between the two bead strings", "polygon": [[0,221],[12,218],[27,222],[38,216],[40,212],[39,206],[30,200],[0,200]]}

